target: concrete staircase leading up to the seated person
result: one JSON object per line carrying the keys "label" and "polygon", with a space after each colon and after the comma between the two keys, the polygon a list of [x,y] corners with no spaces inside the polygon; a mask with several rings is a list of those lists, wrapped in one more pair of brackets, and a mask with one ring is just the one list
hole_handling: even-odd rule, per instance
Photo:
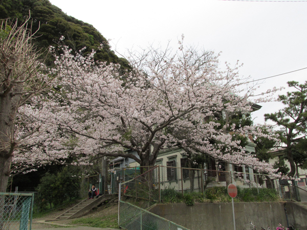
{"label": "concrete staircase leading up to the seated person", "polygon": [[99,196],[97,199],[94,198],[90,200],[89,199],[82,200],[80,203],[73,206],[73,208],[57,216],[55,219],[66,220],[66,219],[72,219],[84,216],[87,213],[91,212],[92,209],[96,208],[98,205],[105,202],[106,200],[111,200],[115,197],[116,195],[113,194],[113,195],[102,195]]}

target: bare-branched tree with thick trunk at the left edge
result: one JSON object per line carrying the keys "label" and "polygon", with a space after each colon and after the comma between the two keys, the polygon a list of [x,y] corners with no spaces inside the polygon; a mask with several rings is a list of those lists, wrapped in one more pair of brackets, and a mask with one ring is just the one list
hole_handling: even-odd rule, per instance
{"label": "bare-branched tree with thick trunk at the left edge", "polygon": [[27,22],[18,27],[17,22],[3,20],[0,25],[0,192],[6,191],[15,151],[39,128],[18,131],[28,122],[18,120],[18,110],[33,96],[49,90],[53,79],[37,61],[38,53],[31,44],[34,34]]}

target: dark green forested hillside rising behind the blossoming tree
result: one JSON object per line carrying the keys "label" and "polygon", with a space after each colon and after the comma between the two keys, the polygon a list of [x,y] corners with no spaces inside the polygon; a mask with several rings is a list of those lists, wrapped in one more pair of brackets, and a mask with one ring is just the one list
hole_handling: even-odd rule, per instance
{"label": "dark green forested hillside rising behind the blossoming tree", "polygon": [[86,47],[84,54],[97,50],[103,44],[103,49],[97,50],[96,60],[128,67],[127,61],[115,55],[107,40],[92,25],[68,16],[48,0],[0,0],[1,19],[18,19],[18,23],[21,23],[29,16],[29,11],[32,31],[39,28],[34,40],[37,49],[44,51],[49,45],[57,47],[59,38],[64,36],[64,43],[73,50]]}

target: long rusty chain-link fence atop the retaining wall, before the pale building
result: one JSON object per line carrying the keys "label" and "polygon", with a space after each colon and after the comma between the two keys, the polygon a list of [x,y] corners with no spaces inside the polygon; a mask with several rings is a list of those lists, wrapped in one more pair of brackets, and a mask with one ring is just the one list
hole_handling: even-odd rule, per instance
{"label": "long rusty chain-link fence atop the retaining wall, before the pale building", "polygon": [[[114,193],[119,193],[120,183],[123,200],[143,209],[155,203],[185,200],[189,198],[188,194],[203,200],[206,193],[214,193],[215,190],[209,191],[211,188],[226,188],[229,183],[242,189],[257,188],[258,193],[260,188],[267,188],[268,185],[265,175],[260,174],[165,166],[117,169],[112,177]],[[277,188],[276,180],[270,179],[270,183],[271,188]]]}

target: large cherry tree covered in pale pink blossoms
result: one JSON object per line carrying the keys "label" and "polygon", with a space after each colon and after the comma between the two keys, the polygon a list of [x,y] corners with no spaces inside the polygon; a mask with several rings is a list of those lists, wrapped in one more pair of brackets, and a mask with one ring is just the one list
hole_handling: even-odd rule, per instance
{"label": "large cherry tree covered in pale pink blossoms", "polygon": [[[71,158],[89,164],[102,156],[122,156],[152,166],[161,149],[180,143],[195,153],[274,173],[233,138],[269,135],[214,118],[252,110],[253,88],[238,75],[238,65],[226,64],[222,71],[219,55],[181,42],[177,52],[149,48],[130,53],[134,69],[125,74],[119,74],[119,65],[94,62],[94,53],[74,56],[65,47],[62,53],[55,61],[61,80],[57,90],[33,98],[36,106],[23,107],[31,129],[46,131],[31,136],[27,153],[16,154],[17,161],[64,163]],[[209,117],[214,119],[204,120]]]}

